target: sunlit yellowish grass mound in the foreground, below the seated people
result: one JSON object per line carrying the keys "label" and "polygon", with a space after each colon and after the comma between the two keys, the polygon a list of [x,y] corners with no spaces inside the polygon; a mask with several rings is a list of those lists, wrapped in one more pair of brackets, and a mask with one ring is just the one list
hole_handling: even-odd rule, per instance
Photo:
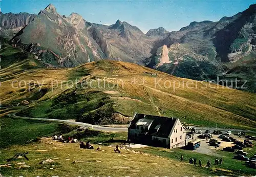
{"label": "sunlit yellowish grass mound in the foreground, below the seated people", "polygon": [[[14,156],[17,151],[29,151],[29,161],[24,158],[11,161],[12,168],[1,167],[1,173],[5,176],[199,176],[211,173],[208,169],[200,169],[151,154],[127,150],[119,154],[113,151],[114,147],[101,148],[104,151],[80,149],[78,144],[63,144],[50,139],[42,139],[36,144],[12,146],[9,150],[1,150],[3,156],[0,157],[0,165],[5,164],[3,160]],[[38,164],[48,158],[54,162]],[[18,162],[25,162],[29,167],[18,165]]]}

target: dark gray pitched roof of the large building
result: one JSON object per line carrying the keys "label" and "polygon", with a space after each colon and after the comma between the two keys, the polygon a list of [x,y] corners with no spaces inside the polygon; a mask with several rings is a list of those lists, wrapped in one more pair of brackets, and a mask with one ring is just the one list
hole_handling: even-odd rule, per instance
{"label": "dark gray pitched roof of the large building", "polygon": [[151,124],[150,129],[148,130],[148,135],[168,138],[174,125],[178,121],[178,118],[168,118],[168,117],[160,117],[160,116],[152,116],[152,115],[144,115],[144,114],[136,113],[134,116],[134,119],[129,125],[129,128],[135,129],[137,123],[140,122],[141,120],[146,121],[147,122],[145,123],[146,125]]}

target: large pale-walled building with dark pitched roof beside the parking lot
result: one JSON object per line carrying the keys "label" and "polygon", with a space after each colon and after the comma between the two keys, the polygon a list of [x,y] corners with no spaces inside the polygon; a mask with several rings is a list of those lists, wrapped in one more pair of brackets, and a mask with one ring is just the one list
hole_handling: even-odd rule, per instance
{"label": "large pale-walled building with dark pitched roof beside the parking lot", "polygon": [[128,140],[157,147],[183,147],[186,145],[186,129],[178,118],[135,113],[128,126]]}

